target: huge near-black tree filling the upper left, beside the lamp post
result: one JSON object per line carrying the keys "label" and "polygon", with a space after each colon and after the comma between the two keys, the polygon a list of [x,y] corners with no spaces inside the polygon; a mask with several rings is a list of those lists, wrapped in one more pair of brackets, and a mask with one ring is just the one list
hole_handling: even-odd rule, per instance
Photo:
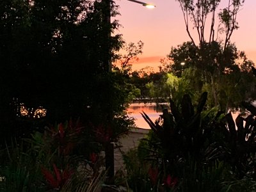
{"label": "huge near-black tree filling the upper left, beside the lamp post", "polygon": [[[114,17],[117,6],[109,3]],[[129,90],[120,88],[122,77],[109,72],[107,61],[123,40],[108,36],[119,25],[106,22],[106,2],[11,0],[0,6],[2,129],[15,127],[24,108],[25,119],[46,109],[52,123],[78,116],[97,122],[108,111],[122,113]]]}

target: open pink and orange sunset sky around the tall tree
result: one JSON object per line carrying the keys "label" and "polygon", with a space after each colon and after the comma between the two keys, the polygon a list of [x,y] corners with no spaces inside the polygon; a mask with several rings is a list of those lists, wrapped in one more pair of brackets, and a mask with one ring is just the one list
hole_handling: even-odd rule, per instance
{"label": "open pink and orange sunset sky around the tall tree", "polygon": [[[166,57],[171,50],[182,42],[189,40],[186,33],[182,11],[175,0],[145,0],[156,8],[149,10],[141,4],[127,0],[116,0],[120,5],[120,16],[116,17],[122,24],[118,33],[123,34],[127,43],[144,42],[140,60],[133,64],[133,69],[160,65],[160,59]],[[225,8],[228,0],[222,0],[218,7]],[[231,41],[240,51],[245,51],[250,60],[256,63],[256,1],[245,0],[244,6],[237,15],[239,29],[234,31]],[[217,26],[217,25],[216,25]],[[194,37],[196,34],[194,33]]]}

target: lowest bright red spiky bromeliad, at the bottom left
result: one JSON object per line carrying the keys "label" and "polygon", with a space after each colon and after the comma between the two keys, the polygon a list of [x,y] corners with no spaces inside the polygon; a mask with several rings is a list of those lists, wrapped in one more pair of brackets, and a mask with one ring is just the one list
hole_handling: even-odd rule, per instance
{"label": "lowest bright red spiky bromeliad, at the bottom left", "polygon": [[67,180],[70,179],[72,172],[68,168],[63,170],[63,172],[60,172],[56,164],[53,164],[53,170],[54,173],[50,172],[44,167],[41,168],[41,171],[49,183],[49,186],[51,186],[52,189],[60,189],[67,182]]}

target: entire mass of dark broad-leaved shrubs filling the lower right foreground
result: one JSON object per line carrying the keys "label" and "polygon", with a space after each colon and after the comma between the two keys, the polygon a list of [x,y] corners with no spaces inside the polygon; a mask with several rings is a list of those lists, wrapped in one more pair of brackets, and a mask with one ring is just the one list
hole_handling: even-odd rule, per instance
{"label": "entire mass of dark broad-leaved shrubs filling the lower right foreground", "polygon": [[[163,109],[156,122],[146,113],[141,114],[151,131],[141,141],[138,155],[133,152],[132,161],[126,159],[128,175],[133,172],[132,177],[138,178],[132,179],[136,180],[133,185],[142,187],[141,179],[153,191],[228,191],[244,178],[255,177],[253,115],[246,118],[239,115],[235,124],[231,113],[224,115],[214,108],[206,110],[206,100],[205,92],[194,110],[189,95],[184,95],[180,109],[170,99],[171,113]],[[246,108],[252,114],[256,112],[248,104]],[[134,157],[140,165],[133,165],[131,171],[131,163],[136,162]],[[150,164],[148,173],[141,177],[138,171],[147,164]],[[251,183],[253,186],[253,180]]]}

